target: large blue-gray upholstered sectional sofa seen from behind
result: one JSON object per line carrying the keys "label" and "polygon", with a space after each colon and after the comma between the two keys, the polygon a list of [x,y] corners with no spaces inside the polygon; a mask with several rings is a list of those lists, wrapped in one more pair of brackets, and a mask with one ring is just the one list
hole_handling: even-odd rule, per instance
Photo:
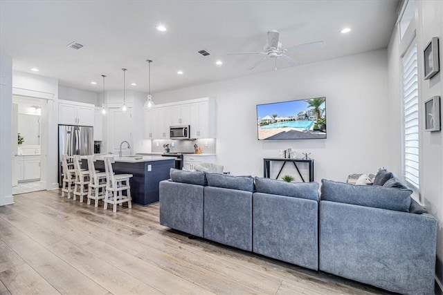
{"label": "large blue-gray upholstered sectional sofa seen from behind", "polygon": [[437,222],[397,184],[323,180],[320,200],[316,182],[170,176],[160,182],[161,225],[392,292],[433,294]]}

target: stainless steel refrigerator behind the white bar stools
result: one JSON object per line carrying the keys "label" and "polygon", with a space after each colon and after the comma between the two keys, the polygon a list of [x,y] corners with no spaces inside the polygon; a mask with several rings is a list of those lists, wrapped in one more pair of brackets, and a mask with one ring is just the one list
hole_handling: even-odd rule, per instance
{"label": "stainless steel refrigerator behind the white bar stools", "polygon": [[62,155],[93,155],[93,127],[87,126],[58,126],[58,175],[59,187],[62,187]]}

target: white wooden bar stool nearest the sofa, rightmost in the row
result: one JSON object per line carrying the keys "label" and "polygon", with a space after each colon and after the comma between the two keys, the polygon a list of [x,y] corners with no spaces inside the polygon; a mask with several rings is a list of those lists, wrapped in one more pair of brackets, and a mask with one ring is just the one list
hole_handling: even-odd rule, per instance
{"label": "white wooden bar stool nearest the sofa, rightmost in the row", "polygon": [[[132,178],[132,174],[117,174],[114,175],[112,169],[112,163],[114,163],[114,157],[105,157],[105,170],[106,170],[106,193],[104,209],[108,208],[108,203],[112,204],[112,211],[117,211],[117,204],[123,204],[127,202],[127,206],[132,208],[131,203],[131,187],[129,185],[129,178]],[[126,191],[126,196],[123,195],[123,191]]]}

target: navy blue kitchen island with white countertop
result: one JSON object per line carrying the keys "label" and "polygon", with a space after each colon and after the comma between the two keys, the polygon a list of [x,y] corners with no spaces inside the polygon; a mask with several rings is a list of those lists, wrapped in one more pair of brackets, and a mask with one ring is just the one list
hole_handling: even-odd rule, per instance
{"label": "navy blue kitchen island with white countertop", "polygon": [[[104,155],[96,156],[96,170],[105,171]],[[167,180],[175,161],[161,156],[114,156],[112,169],[116,174],[132,174],[130,180],[131,197],[134,204],[147,206],[159,202],[159,182]]]}

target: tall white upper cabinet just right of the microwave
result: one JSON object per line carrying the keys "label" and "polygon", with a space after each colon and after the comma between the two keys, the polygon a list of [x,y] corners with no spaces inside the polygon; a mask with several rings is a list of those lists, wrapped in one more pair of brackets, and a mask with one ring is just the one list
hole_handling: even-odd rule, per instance
{"label": "tall white upper cabinet just right of the microwave", "polygon": [[190,104],[190,137],[215,138],[215,100],[196,99]]}

